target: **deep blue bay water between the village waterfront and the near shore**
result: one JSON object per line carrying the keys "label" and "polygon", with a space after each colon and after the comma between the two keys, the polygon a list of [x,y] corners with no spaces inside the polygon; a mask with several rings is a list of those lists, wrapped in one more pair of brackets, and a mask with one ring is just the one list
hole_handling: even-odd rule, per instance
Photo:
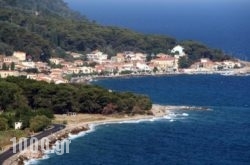
{"label": "deep blue bay water between the village waterfront and the near shore", "polygon": [[148,94],[155,103],[201,105],[149,121],[99,125],[70,145],[70,153],[33,164],[250,164],[250,77],[143,77],[95,82]]}

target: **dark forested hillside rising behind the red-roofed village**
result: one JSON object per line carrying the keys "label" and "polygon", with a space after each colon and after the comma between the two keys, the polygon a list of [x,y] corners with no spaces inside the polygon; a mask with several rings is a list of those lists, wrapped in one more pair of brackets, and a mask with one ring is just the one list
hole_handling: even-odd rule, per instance
{"label": "dark forested hillside rising behind the red-roofed village", "polygon": [[[169,53],[178,42],[170,37],[144,35],[131,30],[101,26],[71,11],[63,0],[0,0],[0,53],[25,51],[35,60],[65,57],[65,51],[100,49]],[[214,60],[224,54],[195,42],[183,42],[193,62],[199,56]]]}

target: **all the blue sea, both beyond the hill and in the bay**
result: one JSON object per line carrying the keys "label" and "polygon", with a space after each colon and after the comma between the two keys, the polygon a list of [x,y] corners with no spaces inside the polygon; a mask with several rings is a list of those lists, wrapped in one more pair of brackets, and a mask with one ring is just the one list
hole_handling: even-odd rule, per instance
{"label": "all the blue sea, both beyond the hill and in the bay", "polygon": [[[247,0],[66,0],[104,25],[194,39],[250,59]],[[208,111],[172,111],[162,118],[91,125],[71,138],[70,152],[38,165],[249,165],[250,76],[168,75],[102,79],[112,91],[149,96],[154,104]]]}

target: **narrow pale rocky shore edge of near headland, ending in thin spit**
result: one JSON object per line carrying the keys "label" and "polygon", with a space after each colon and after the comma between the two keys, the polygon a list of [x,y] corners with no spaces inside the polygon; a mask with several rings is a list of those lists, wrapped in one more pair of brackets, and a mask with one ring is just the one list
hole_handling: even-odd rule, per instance
{"label": "narrow pale rocky shore edge of near headland, ending in thin spit", "polygon": [[[49,139],[49,149],[53,149],[58,141],[63,141],[69,138],[69,135],[77,135],[80,132],[88,131],[90,129],[90,124],[105,124],[105,123],[116,123],[122,121],[129,121],[129,120],[140,120],[140,119],[151,119],[154,117],[163,117],[171,111],[176,110],[199,110],[199,111],[207,111],[211,110],[207,107],[196,107],[196,106],[165,106],[165,105],[157,105],[154,104],[152,107],[152,114],[153,115],[138,115],[132,117],[123,117],[123,118],[108,118],[100,121],[93,121],[93,122],[86,122],[86,123],[78,123],[76,125],[69,125],[65,129],[51,134],[47,138]],[[37,152],[32,152],[30,150],[31,147],[28,147],[24,151],[20,152],[19,154],[14,155],[13,157],[9,158],[5,161],[4,165],[24,165],[25,162],[31,159],[42,159],[45,154],[45,149],[41,147],[39,141],[39,147]]]}

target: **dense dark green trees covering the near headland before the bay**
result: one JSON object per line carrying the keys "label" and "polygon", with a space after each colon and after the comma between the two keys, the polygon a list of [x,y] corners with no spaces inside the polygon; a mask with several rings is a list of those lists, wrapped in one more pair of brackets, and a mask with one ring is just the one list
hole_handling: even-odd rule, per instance
{"label": "dense dark green trees covering the near headland before the bay", "polygon": [[[14,77],[0,79],[0,107],[4,112],[0,115],[0,130],[13,127],[19,120],[24,128],[40,130],[32,120],[36,116],[52,119],[53,114],[67,112],[147,114],[151,106],[147,96],[112,92],[98,86],[55,85]],[[44,118],[39,120],[46,121]]]}

